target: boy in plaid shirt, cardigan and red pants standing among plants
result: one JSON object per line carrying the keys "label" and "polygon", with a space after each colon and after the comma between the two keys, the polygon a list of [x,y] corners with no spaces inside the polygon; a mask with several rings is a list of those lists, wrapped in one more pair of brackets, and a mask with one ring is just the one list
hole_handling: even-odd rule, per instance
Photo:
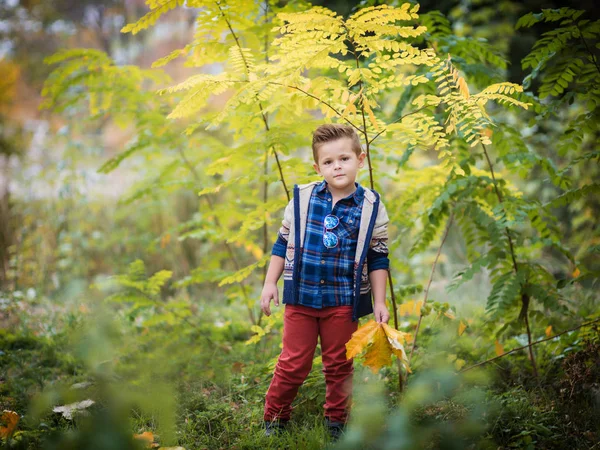
{"label": "boy in plaid shirt, cardigan and red pants standing among plants", "polygon": [[283,272],[283,350],[266,395],[264,420],[267,435],[285,426],[320,337],[325,420],[337,438],[352,390],[346,342],[358,318],[374,312],[377,322],[387,323],[390,317],[385,304],[388,217],[379,195],[356,183],[366,155],[351,126],[318,127],[312,149],[313,167],[323,181],[294,187],[261,294],[261,309],[269,316],[271,300],[279,306],[277,281]]}

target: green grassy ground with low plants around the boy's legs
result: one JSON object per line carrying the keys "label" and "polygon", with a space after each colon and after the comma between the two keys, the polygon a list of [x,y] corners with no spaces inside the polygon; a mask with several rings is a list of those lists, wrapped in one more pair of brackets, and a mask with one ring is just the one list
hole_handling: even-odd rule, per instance
{"label": "green grassy ground with low plants around the boy's legs", "polygon": [[358,358],[352,420],[335,443],[322,420],[318,352],[290,426],[264,435],[280,325],[257,340],[235,306],[228,320],[209,308],[151,327],[93,308],[63,316],[52,333],[26,320],[0,332],[0,408],[18,416],[12,429],[4,424],[2,448],[587,449],[600,440],[597,327],[539,345],[537,379],[524,352],[457,374],[435,351],[441,326],[425,329],[430,356],[402,392],[396,365],[375,374]]}

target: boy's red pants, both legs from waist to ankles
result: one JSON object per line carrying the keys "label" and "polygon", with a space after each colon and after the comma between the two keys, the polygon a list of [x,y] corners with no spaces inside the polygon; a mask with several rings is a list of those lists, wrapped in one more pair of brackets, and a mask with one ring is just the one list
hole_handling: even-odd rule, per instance
{"label": "boy's red pants, both legs from waist to ankles", "polygon": [[310,372],[320,336],[327,386],[325,417],[332,422],[346,422],[354,371],[352,360],[346,359],[346,342],[357,326],[358,322],[352,322],[351,306],[315,309],[286,305],[283,350],[267,391],[266,421],[289,420],[292,401]]}

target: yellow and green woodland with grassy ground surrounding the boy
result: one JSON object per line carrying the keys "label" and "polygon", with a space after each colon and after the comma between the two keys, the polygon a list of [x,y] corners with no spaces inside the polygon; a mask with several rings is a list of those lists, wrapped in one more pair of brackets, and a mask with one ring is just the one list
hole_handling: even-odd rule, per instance
{"label": "yellow and green woodland with grassy ground surrounding the boy", "polygon": [[[402,3],[0,4],[3,448],[599,447],[599,12]],[[390,213],[411,370],[363,342],[337,444],[318,352],[261,430],[323,121]]]}

